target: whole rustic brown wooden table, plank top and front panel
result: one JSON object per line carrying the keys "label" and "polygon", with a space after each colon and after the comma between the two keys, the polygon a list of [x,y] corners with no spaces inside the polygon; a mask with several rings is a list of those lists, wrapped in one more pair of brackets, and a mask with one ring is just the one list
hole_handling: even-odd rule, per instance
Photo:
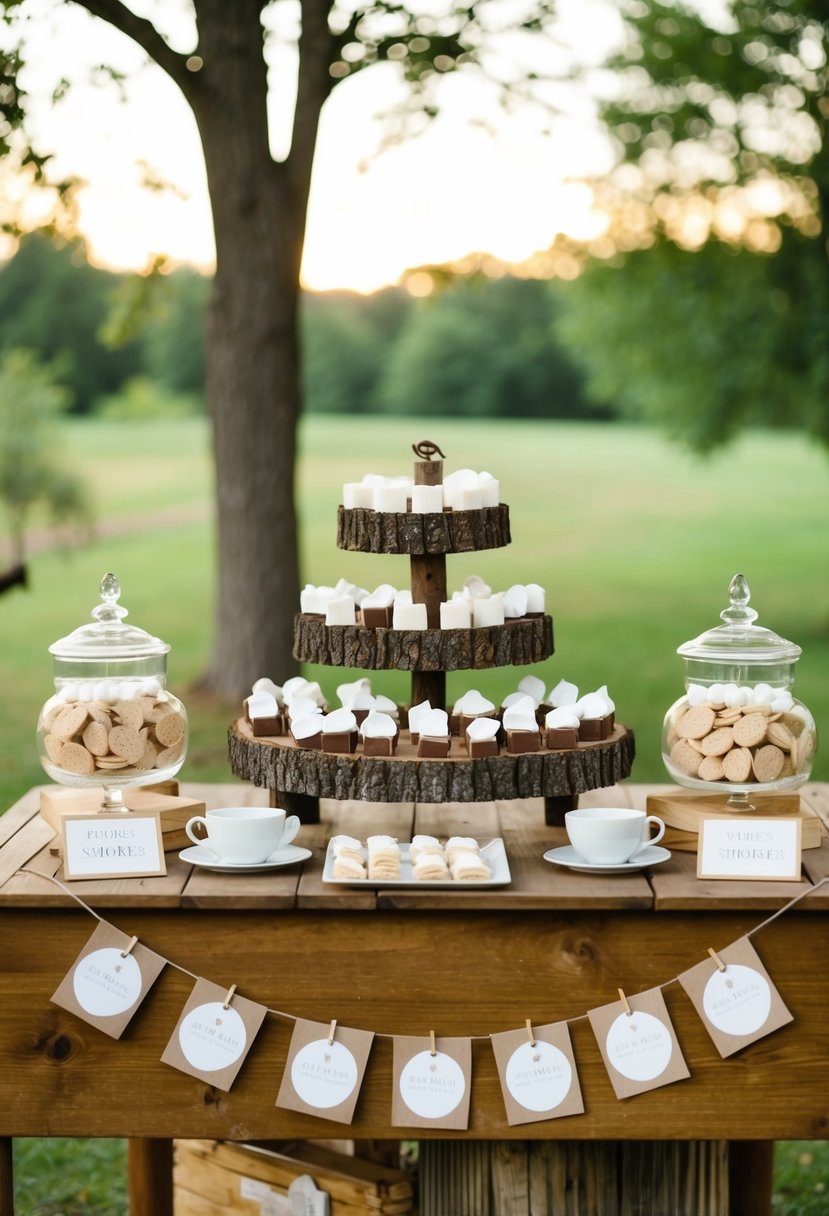
{"label": "whole rustic brown wooden table, plank top and front panel", "polygon": [[[648,793],[664,788],[620,786],[586,794],[581,804],[643,807]],[[184,792],[208,805],[267,799],[266,790],[239,784]],[[806,787],[803,796],[829,823],[829,786]],[[61,862],[38,806],[32,790],[0,818],[0,1136],[132,1138],[134,1216],[165,1210],[165,1144],[174,1136],[342,1136],[342,1125],[273,1104],[288,1019],[266,1019],[233,1088],[221,1093],[159,1060],[192,987],[181,972],[163,972],[120,1041],[50,1003],[94,921],[40,877],[60,876]],[[825,841],[803,854],[800,883],[699,882],[688,854],[648,873],[597,878],[542,860],[565,838],[545,826],[541,799],[323,803],[322,820],[300,832],[298,843],[314,850],[301,867],[225,876],[169,854],[165,878],[77,882],[72,890],[190,972],[237,984],[271,1008],[378,1032],[349,1132],[356,1139],[411,1137],[389,1126],[391,1041],[382,1036],[430,1029],[481,1036],[473,1043],[469,1130],[455,1133],[462,1141],[829,1137],[829,884],[752,939],[794,1014],[791,1025],[722,1060],[678,985],[666,989],[689,1081],[616,1100],[590,1025],[577,1020],[571,1035],[585,1115],[511,1128],[484,1037],[526,1018],[579,1018],[615,1000],[619,986],[635,993],[664,984],[705,958],[709,946],[728,945],[827,877]],[[321,876],[334,831],[363,838],[388,831],[401,840],[412,832],[480,840],[500,834],[513,880],[504,889],[457,893],[333,888]],[[35,873],[17,873],[23,866]],[[7,1154],[0,1175],[0,1212],[11,1212]]]}

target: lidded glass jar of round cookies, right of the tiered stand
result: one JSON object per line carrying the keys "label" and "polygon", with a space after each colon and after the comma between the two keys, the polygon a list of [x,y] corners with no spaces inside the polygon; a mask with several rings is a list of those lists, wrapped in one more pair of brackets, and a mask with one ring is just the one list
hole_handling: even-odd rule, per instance
{"label": "lidded glass jar of round cookies, right of the tiered stand", "polygon": [[800,647],[755,625],[741,574],[728,586],[722,625],[678,649],[686,692],[665,715],[662,760],[679,786],[720,790],[732,807],[749,795],[802,786],[812,771],[817,730],[791,693]]}

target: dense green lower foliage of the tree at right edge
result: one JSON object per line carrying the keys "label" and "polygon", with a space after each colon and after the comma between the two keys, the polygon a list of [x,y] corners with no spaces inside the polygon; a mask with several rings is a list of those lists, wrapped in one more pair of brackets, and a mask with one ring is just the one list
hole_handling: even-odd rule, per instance
{"label": "dense green lower foliage of the tree at right edge", "polygon": [[592,400],[698,451],[756,424],[829,446],[829,276],[817,249],[800,254],[661,243],[593,264],[552,288],[557,332]]}

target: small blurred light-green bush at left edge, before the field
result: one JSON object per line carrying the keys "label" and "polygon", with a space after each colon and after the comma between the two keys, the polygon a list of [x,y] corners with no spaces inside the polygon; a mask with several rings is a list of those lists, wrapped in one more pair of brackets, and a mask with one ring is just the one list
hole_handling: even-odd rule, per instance
{"label": "small blurred light-green bush at left edge, before the field", "polygon": [[26,557],[26,528],[33,508],[45,503],[56,523],[89,528],[91,510],[80,480],[60,458],[57,418],[67,390],[52,368],[28,350],[7,350],[0,359],[0,502],[15,559]]}

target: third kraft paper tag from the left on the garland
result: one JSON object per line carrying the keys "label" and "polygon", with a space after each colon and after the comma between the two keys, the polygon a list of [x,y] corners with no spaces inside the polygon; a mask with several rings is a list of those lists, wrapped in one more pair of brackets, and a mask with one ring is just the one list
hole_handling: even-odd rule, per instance
{"label": "third kraft paper tag from the left on the garland", "polygon": [[350,1124],[366,1075],[373,1030],[297,1019],[276,1105]]}

